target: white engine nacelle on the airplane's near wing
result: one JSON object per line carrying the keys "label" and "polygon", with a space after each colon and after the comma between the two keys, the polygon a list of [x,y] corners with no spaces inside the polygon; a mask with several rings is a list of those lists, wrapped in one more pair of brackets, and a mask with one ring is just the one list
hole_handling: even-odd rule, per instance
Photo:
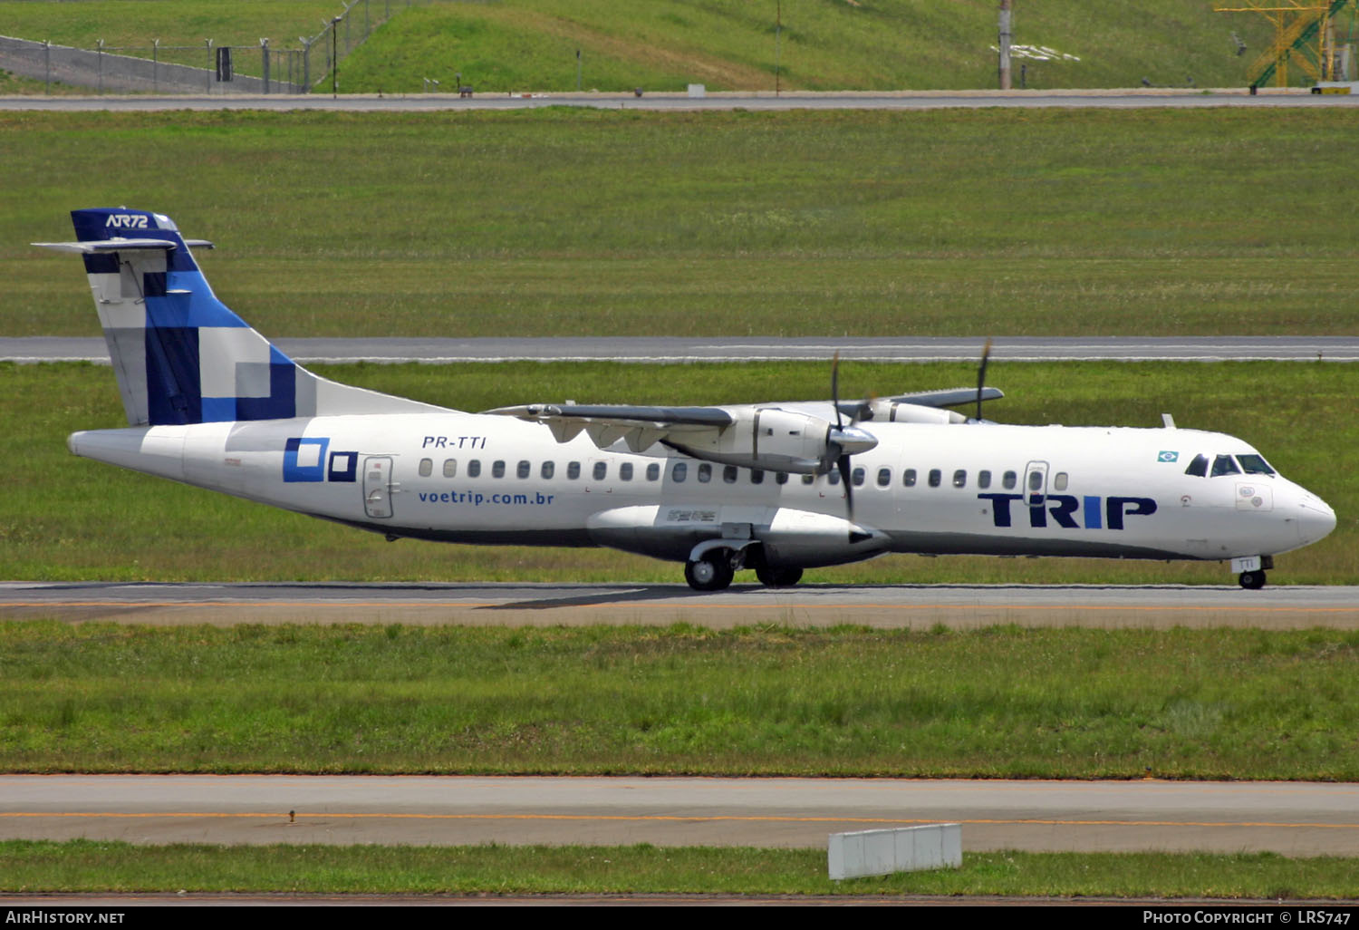
{"label": "white engine nacelle on the airplane's near wing", "polygon": [[696,458],[771,472],[821,475],[834,466],[840,454],[832,441],[834,423],[777,407],[723,409],[735,417],[726,430],[692,438],[671,434],[666,445]]}

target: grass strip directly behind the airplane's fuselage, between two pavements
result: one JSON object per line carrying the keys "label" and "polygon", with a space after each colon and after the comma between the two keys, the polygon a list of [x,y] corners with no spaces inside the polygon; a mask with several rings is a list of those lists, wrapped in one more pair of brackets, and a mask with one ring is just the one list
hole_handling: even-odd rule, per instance
{"label": "grass strip directly behind the airplane's fuselage, between two pavements", "polygon": [[[77,269],[73,269],[77,273]],[[88,299],[88,298],[86,298]],[[761,366],[469,364],[326,367],[340,381],[459,409],[533,401],[712,404],[824,397],[829,363]],[[844,396],[974,382],[969,364],[841,366]],[[603,549],[450,547],[382,537],[73,458],[76,430],[125,424],[113,373],[0,366],[0,455],[22,462],[0,513],[0,578],[149,581],[663,581],[675,564]],[[1330,363],[995,364],[1003,423],[1220,430],[1256,445],[1340,514],[1320,544],[1279,557],[1276,583],[1359,582],[1352,446],[1359,367]],[[928,457],[927,450],[921,455]],[[935,462],[921,460],[920,468]],[[1022,465],[1022,464],[1021,464]],[[998,468],[1010,464],[998,462]],[[872,488],[860,504],[871,506]],[[230,528],[230,532],[226,529]],[[809,582],[1231,583],[1218,563],[889,556],[809,572]]]}

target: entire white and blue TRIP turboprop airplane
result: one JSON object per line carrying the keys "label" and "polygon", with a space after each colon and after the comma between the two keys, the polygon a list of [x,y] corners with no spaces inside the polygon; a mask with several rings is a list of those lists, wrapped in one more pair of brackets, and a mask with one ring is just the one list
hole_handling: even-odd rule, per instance
{"label": "entire white and blue TRIP turboprop airplane", "polygon": [[[885,552],[1230,560],[1336,525],[1249,443],[1174,428],[1000,426],[980,385],[860,401],[533,404],[465,413],[319,378],[228,310],[160,213],[72,212],[130,426],[77,455],[383,533],[605,545],[685,563],[697,590],[753,568]],[[945,409],[977,401],[977,417]],[[858,513],[855,504],[858,503]]]}

